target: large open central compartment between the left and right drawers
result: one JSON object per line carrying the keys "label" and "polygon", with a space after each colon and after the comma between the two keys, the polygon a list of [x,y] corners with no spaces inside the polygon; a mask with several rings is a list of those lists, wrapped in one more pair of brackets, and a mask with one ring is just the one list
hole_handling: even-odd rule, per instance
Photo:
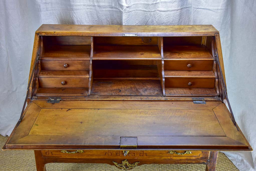
{"label": "large open central compartment between the left and right drawers", "polygon": [[156,60],[93,60],[91,95],[163,95]]}

